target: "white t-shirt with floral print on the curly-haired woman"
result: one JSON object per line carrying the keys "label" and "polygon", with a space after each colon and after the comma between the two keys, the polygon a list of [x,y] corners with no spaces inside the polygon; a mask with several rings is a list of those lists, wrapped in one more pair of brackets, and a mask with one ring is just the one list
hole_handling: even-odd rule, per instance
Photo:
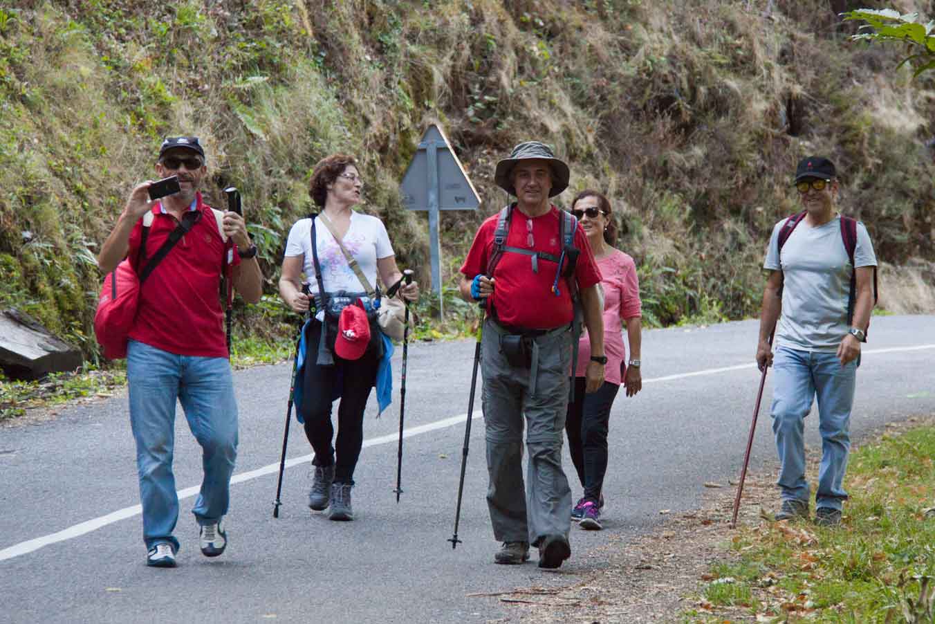
{"label": "white t-shirt with floral print on the curly-haired woman", "polygon": [[[347,258],[338,247],[338,241],[331,236],[331,232],[322,223],[320,218],[315,219],[315,238],[318,248],[318,263],[322,268],[322,282],[324,290],[328,293],[345,291],[349,293],[365,292],[364,285],[357,279],[357,275],[348,264]],[[377,260],[395,255],[390,237],[386,233],[386,226],[377,217],[360,212],[351,213],[351,226],[342,239],[344,247],[353,255],[361,270],[370,282],[370,286],[377,286]],[[318,293],[318,282],[315,280],[315,266],[311,255],[311,219],[300,219],[289,230],[286,240],[285,256],[295,257],[302,255],[302,269],[309,282],[309,291]],[[367,297],[364,297],[367,301]],[[322,312],[319,312],[321,317]],[[321,318],[319,318],[321,320]]]}

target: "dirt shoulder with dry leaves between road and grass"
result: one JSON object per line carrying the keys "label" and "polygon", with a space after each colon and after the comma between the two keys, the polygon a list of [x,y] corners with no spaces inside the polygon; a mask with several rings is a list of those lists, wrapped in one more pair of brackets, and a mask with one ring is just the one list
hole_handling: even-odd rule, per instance
{"label": "dirt shoulder with dry leaves between road and grass", "polygon": [[[864,436],[872,443],[884,433],[897,434],[920,425],[935,425],[935,414],[915,415]],[[855,446],[856,448],[856,446]],[[810,471],[820,449],[809,449]],[[770,521],[776,506],[778,466],[773,471],[748,473],[738,525]],[[609,564],[566,588],[527,587],[479,600],[498,600],[511,607],[509,617],[492,622],[620,622],[683,621],[680,614],[698,606],[698,594],[713,563],[734,557],[729,544],[737,486],[707,490],[702,507],[673,515],[653,532],[628,542],[611,540],[603,546]],[[575,529],[572,529],[575,530]],[[535,559],[535,558],[534,558]],[[710,579],[709,579],[710,580]],[[747,613],[749,617],[749,613]],[[744,618],[731,619],[742,621]]]}

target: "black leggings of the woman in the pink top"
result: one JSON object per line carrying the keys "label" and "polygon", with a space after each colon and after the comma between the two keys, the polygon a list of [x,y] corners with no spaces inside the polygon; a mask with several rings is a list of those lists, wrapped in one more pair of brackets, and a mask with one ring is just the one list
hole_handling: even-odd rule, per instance
{"label": "black leggings of the woman in the pink top", "polygon": [[607,472],[607,431],[619,385],[604,382],[594,394],[584,393],[584,378],[575,377],[575,402],[568,403],[565,431],[568,452],[584,487],[584,498],[597,502]]}

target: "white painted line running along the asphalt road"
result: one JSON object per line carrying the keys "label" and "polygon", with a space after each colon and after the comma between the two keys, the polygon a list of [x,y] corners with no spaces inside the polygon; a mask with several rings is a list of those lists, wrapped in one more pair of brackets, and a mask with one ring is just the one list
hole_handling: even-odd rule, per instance
{"label": "white painted line running along the asphalt road", "polygon": [[[888,354],[888,353],[901,353],[907,351],[922,351],[925,349],[935,349],[935,344],[922,344],[914,347],[893,347],[888,349],[868,349],[864,351],[865,356],[876,355],[876,354]],[[727,366],[719,369],[707,369],[707,370],[696,370],[694,372],[683,372],[676,375],[667,375],[665,377],[654,377],[653,379],[643,380],[643,384],[654,384],[658,382],[669,382],[676,379],[685,379],[688,377],[698,377],[701,375],[715,375],[720,372],[728,372],[731,370],[744,370],[755,368],[755,363],[751,362],[749,364],[739,364],[737,366]],[[458,423],[463,423],[467,418],[468,414],[459,414],[457,416],[452,416],[451,418],[444,418],[442,420],[437,420],[433,423],[428,423],[427,425],[420,425],[418,427],[407,428],[403,430],[404,438],[411,438],[412,436],[417,436],[422,433],[427,433],[429,431],[436,431],[438,429],[449,428]],[[474,418],[480,418],[482,416],[481,411],[477,410],[474,412]],[[391,433],[388,435],[380,436],[379,438],[371,438],[364,441],[364,447],[368,446],[377,446],[379,444],[393,443],[399,440],[398,433]],[[293,457],[292,459],[286,460],[286,467],[297,466],[298,464],[304,464],[311,461],[313,455],[304,455],[302,457]],[[250,481],[251,479],[256,479],[257,477],[266,476],[266,474],[272,474],[274,472],[279,472],[280,464],[276,462],[274,464],[269,464],[262,468],[258,468],[250,472],[240,472],[235,474],[231,478],[231,484],[243,483],[244,481]],[[179,490],[179,500],[188,499],[193,497],[198,493],[200,486],[186,487],[185,489]],[[68,527],[65,530],[60,530],[56,533],[50,533],[49,535],[44,535],[42,537],[37,537],[33,540],[28,540],[26,542],[21,542],[20,544],[13,544],[8,546],[3,550],[0,550],[0,561],[4,559],[13,559],[15,557],[20,557],[21,555],[26,555],[31,553],[43,546],[48,546],[49,544],[56,544],[58,542],[65,542],[65,540],[71,540],[76,537],[80,537],[91,531],[101,529],[120,520],[124,520],[134,515],[142,513],[142,508],[140,505],[133,505],[132,507],[124,507],[116,512],[112,512],[108,515],[101,515],[96,517],[93,520],[88,520],[86,522],[81,522],[73,527]]]}

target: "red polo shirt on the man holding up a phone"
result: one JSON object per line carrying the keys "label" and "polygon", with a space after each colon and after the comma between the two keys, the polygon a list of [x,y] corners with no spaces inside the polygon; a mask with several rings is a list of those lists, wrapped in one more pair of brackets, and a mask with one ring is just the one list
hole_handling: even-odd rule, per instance
{"label": "red polo shirt on the man holding up a phone", "polygon": [[[130,338],[145,342],[178,356],[227,357],[224,315],[220,297],[223,263],[240,264],[237,246],[227,248],[217,220],[198,193],[193,208],[201,218],[143,283],[139,293],[137,320]],[[151,258],[169,234],[179,225],[162,203],[152,208],[153,220],[146,239],[146,256]],[[137,266],[139,241],[143,232],[140,219],[130,234],[127,257]],[[139,271],[143,267],[137,267]]]}

